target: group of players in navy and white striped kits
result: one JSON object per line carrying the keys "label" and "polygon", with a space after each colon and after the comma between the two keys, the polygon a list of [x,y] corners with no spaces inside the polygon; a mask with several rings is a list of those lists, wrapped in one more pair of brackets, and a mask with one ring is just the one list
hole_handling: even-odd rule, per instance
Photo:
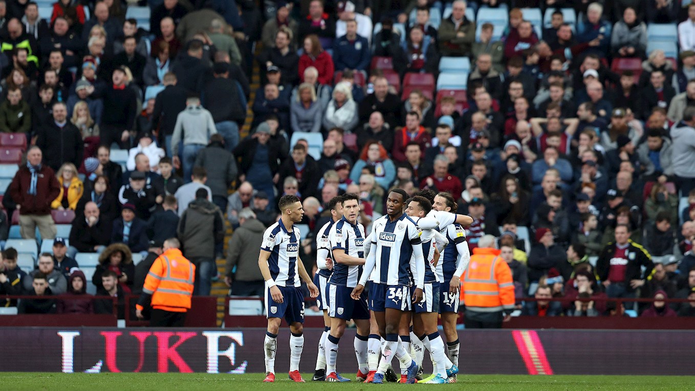
{"label": "group of players in navy and white striped kits", "polygon": [[[386,215],[373,222],[369,235],[357,221],[359,196],[334,197],[327,206],[332,219],[316,235],[318,272],[313,281],[298,253],[300,231],[295,224],[304,214],[302,203],[286,195],[279,208],[281,218],[263,234],[259,256],[268,313],[264,382],[275,381],[283,317],[291,331],[289,377],[304,381],[299,372],[304,347],[301,281],[311,297],[317,297],[325,322],[314,381],[350,381],[336,371],[336,359],[345,325],[352,319],[357,327],[357,381],[384,383],[387,374],[397,380],[391,369],[395,356],[400,383],[416,383],[422,379],[427,349],[434,373],[421,382],[456,382],[460,278],[470,260],[463,227],[473,219],[455,214],[457,203],[450,194],[422,190],[409,198],[404,190],[391,190]],[[440,314],[446,350],[437,328]]]}

